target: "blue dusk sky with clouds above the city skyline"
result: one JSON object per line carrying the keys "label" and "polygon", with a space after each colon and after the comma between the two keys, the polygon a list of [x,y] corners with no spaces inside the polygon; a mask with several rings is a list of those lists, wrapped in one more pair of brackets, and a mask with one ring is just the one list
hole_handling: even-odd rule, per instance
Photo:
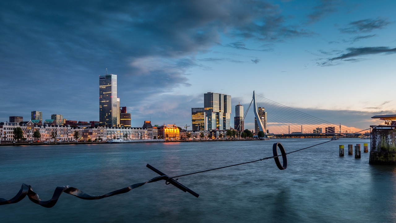
{"label": "blue dusk sky with clouds above the city skyline", "polygon": [[[191,126],[204,93],[257,95],[348,128],[396,114],[396,1],[0,1],[0,122],[99,121],[117,74],[132,126]],[[270,121],[271,114],[268,114]],[[245,128],[254,128],[253,110]],[[191,130],[191,127],[188,127]]]}

